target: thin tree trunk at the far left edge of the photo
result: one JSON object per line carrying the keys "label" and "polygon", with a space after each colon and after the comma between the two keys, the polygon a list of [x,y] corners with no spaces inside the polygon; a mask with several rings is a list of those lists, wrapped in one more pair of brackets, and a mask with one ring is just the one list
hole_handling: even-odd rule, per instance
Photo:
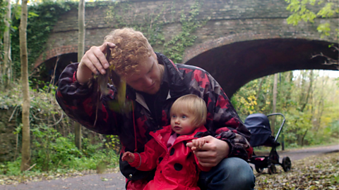
{"label": "thin tree trunk at the far left edge of the photo", "polygon": [[6,76],[5,84],[6,87],[10,86],[12,79],[12,64],[11,64],[11,1],[7,0],[7,10],[5,15],[6,29],[4,32],[4,71],[2,72]]}

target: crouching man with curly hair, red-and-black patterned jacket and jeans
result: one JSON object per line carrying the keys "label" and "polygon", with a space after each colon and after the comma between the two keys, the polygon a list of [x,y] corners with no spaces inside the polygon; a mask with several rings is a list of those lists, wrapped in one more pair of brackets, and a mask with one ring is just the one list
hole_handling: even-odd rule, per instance
{"label": "crouching man with curly hair, red-and-black patterned jacket and jeans", "polygon": [[[107,46],[112,51],[109,61]],[[109,65],[114,65],[128,84],[126,99],[132,102],[128,113],[115,112],[109,106],[117,94],[110,84],[109,93],[97,104],[100,94],[93,73],[103,75]],[[81,125],[101,134],[119,135],[124,153],[142,152],[151,138],[149,132],[169,125],[172,103],[186,94],[201,97],[208,108],[206,128],[211,135],[202,137],[206,144],[194,151],[203,167],[213,167],[210,172],[201,172],[201,189],[254,189],[255,178],[245,161],[252,153],[250,133],[218,82],[201,68],[174,64],[155,53],[141,32],[114,30],[104,44],[91,47],[80,63],[67,66],[61,73],[56,96],[66,114]],[[120,170],[126,177],[126,189],[143,189],[154,175],[135,170],[121,158]]]}

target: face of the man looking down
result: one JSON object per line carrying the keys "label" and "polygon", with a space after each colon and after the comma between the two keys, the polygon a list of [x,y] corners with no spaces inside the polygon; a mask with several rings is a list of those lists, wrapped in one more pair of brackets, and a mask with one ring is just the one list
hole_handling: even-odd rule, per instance
{"label": "face of the man looking down", "polygon": [[143,58],[138,64],[138,72],[126,76],[126,83],[136,91],[156,94],[162,82],[163,65],[157,63],[157,56]]}

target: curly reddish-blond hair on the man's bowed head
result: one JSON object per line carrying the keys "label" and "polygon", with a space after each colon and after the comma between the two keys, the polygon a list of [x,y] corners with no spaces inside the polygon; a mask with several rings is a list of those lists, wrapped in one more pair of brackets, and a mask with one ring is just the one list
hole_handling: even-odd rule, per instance
{"label": "curly reddish-blond hair on the man's bowed head", "polygon": [[113,30],[105,37],[105,42],[116,45],[111,51],[109,63],[114,65],[114,70],[122,77],[137,72],[138,61],[154,52],[143,33],[132,28]]}

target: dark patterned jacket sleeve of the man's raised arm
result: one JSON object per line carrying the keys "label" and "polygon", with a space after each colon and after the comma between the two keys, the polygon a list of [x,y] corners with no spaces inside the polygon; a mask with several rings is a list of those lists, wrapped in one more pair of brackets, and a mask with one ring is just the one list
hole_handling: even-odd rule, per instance
{"label": "dark patterned jacket sleeve of the man's raised arm", "polygon": [[[109,87],[109,94],[101,97],[95,80],[81,84],[76,80],[78,63],[68,65],[59,77],[56,99],[59,106],[72,120],[100,134],[117,134],[119,115],[104,106],[103,101],[114,99],[114,87]],[[121,118],[121,117],[120,117]],[[95,124],[95,125],[94,125]]]}

